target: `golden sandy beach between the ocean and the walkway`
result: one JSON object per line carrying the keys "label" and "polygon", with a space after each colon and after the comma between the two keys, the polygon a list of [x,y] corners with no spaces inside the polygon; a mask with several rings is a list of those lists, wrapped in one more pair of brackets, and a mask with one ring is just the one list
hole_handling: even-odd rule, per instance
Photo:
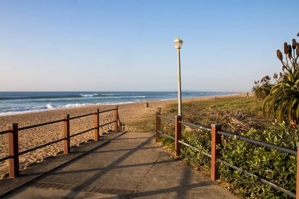
{"label": "golden sandy beach between the ocean and the walkway", "polygon": [[[246,94],[234,95],[246,97]],[[232,97],[234,97],[232,96]],[[195,99],[183,99],[182,102],[191,100],[212,100],[215,97],[202,97]],[[231,96],[222,96],[217,98],[231,98]],[[177,100],[155,100],[143,101],[136,103],[119,104],[119,116],[122,122],[126,124],[127,131],[139,132],[138,129],[133,129],[130,124],[135,121],[142,120],[147,117],[153,117],[156,107],[163,107],[169,103],[175,103]],[[149,103],[149,107],[145,107],[145,103]],[[49,110],[41,112],[32,112],[16,115],[0,116],[0,131],[6,130],[7,123],[18,123],[18,127],[24,127],[54,120],[59,120],[64,114],[70,114],[70,117],[92,113],[96,108],[100,111],[112,109],[115,105],[90,105],[69,109]],[[113,111],[100,114],[100,125],[113,121]],[[75,134],[94,127],[94,116],[86,116],[70,120],[70,134]],[[113,129],[113,124],[107,125],[100,129],[100,134]],[[62,123],[55,123],[41,127],[35,127],[18,132],[19,152],[57,140],[62,138]],[[71,146],[78,145],[81,142],[86,142],[93,139],[93,131],[83,133],[81,135],[71,138]],[[27,164],[41,161],[42,158],[47,156],[55,156],[63,149],[62,142],[52,144],[47,147],[23,154],[19,156],[20,169],[23,169]],[[0,158],[7,156],[7,134],[0,135]],[[8,171],[8,161],[0,162],[0,175]]]}

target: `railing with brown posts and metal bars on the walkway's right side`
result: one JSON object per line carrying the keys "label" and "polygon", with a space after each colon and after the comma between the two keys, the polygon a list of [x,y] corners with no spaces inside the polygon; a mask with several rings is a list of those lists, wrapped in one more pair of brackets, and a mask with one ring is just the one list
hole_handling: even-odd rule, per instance
{"label": "railing with brown posts and metal bars on the walkway's right side", "polygon": [[[252,143],[252,144],[256,144],[256,145],[259,145],[259,146],[264,146],[264,147],[268,147],[268,148],[271,148],[271,149],[276,149],[276,150],[279,150],[279,151],[282,151],[282,152],[286,152],[286,153],[289,153],[289,154],[292,154],[292,155],[297,155],[297,164],[299,165],[299,156],[298,156],[298,150],[293,150],[293,149],[289,149],[289,148],[285,148],[285,147],[281,147],[281,146],[277,146],[277,145],[274,145],[274,144],[270,144],[270,143],[266,143],[266,142],[261,142],[261,141],[257,141],[257,140],[254,140],[254,139],[250,139],[250,138],[247,138],[247,137],[243,137],[243,136],[239,136],[239,135],[234,135],[234,134],[231,134],[231,133],[227,133],[227,132],[223,132],[221,131],[221,128],[222,128],[222,125],[221,124],[212,124],[211,125],[211,128],[206,128],[206,127],[203,127],[203,126],[200,126],[200,125],[195,125],[195,124],[191,124],[191,123],[187,123],[187,122],[183,122],[181,121],[182,120],[182,117],[179,116],[179,115],[176,115],[175,116],[175,119],[172,119],[172,118],[169,118],[169,117],[165,117],[165,116],[162,116],[160,115],[161,114],[161,108],[158,107],[157,108],[157,111],[156,111],[156,125],[155,125],[155,138],[156,138],[156,142],[159,138],[159,135],[162,134],[170,139],[173,139],[174,140],[174,155],[175,156],[180,156],[181,155],[181,144],[182,145],[185,145],[186,147],[189,147],[199,153],[202,153],[203,155],[211,158],[211,179],[213,180],[217,180],[219,179],[220,177],[220,174],[218,172],[218,166],[219,164],[217,164],[217,162],[220,162],[234,170],[237,170],[237,171],[240,171],[241,173],[249,176],[249,177],[253,177],[259,181],[261,181],[262,183],[266,184],[266,185],[269,185],[271,187],[273,187],[274,189],[277,189],[283,193],[286,193],[288,194],[289,196],[291,197],[294,197],[296,198],[296,194],[293,193],[293,192],[290,192],[274,183],[271,183],[259,176],[256,176],[252,173],[249,173],[241,168],[238,168],[236,166],[232,166],[230,165],[229,163],[223,161],[220,159],[220,149],[217,149],[216,146],[218,144],[222,144],[221,143],[221,135],[223,136],[227,136],[227,137],[232,137],[232,138],[236,138],[238,140],[243,140],[245,142],[248,142],[248,143]],[[174,121],[175,122],[175,131],[174,131],[174,137],[160,131],[160,123],[161,123],[161,120],[160,118],[164,118],[164,119],[168,119],[168,120],[171,120],[171,121]],[[211,132],[211,154],[208,154],[208,153],[205,153],[203,150],[201,149],[197,149],[183,141],[181,141],[181,125],[184,124],[184,125],[187,125],[187,126],[192,126],[194,128],[199,128],[199,129],[202,129],[202,130],[206,130],[206,131],[210,131]],[[299,147],[299,143],[297,145]],[[225,150],[225,149],[224,149]],[[296,192],[299,193],[299,177],[297,177],[297,190]],[[299,194],[298,194],[298,198],[299,198]]]}

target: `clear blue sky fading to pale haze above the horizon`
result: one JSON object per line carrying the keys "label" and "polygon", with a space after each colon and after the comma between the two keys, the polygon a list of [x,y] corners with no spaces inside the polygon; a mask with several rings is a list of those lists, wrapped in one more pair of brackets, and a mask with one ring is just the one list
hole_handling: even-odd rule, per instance
{"label": "clear blue sky fading to pale haze above the horizon", "polygon": [[[298,0],[0,0],[0,91],[240,90],[282,70]],[[294,11],[292,11],[292,8]]]}

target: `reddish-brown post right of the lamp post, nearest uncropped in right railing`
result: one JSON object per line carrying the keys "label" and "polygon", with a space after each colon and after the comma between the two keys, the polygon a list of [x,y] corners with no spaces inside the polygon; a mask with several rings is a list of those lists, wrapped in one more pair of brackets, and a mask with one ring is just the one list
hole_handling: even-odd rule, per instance
{"label": "reddish-brown post right of the lamp post, nearest uncropped in right railing", "polygon": [[211,143],[211,179],[217,180],[220,177],[218,173],[217,159],[220,158],[220,149],[216,149],[218,144],[221,144],[221,135],[217,131],[221,131],[222,124],[212,124],[212,143]]}

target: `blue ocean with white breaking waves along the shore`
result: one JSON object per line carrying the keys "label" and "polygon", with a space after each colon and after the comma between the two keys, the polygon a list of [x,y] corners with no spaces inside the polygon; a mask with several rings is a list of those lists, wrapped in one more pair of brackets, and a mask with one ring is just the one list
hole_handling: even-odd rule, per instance
{"label": "blue ocean with white breaking waves along the shore", "polygon": [[[182,92],[182,98],[239,92]],[[177,99],[177,92],[0,92],[0,116],[98,104]]]}

